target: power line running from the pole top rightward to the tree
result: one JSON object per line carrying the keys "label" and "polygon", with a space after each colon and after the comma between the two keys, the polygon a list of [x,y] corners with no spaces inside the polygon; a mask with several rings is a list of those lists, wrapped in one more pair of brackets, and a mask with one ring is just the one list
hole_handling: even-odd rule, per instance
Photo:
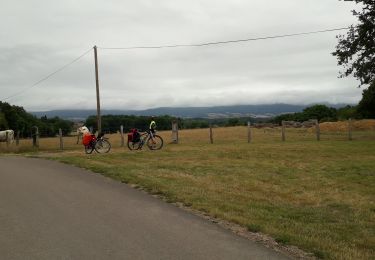
{"label": "power line running from the pole top rightward to the tree", "polygon": [[203,47],[208,45],[219,45],[219,44],[228,44],[228,43],[238,43],[238,42],[248,42],[248,41],[259,41],[259,40],[268,40],[276,38],[285,38],[333,31],[347,30],[349,27],[335,28],[335,29],[326,29],[320,31],[312,32],[301,32],[301,33],[292,33],[292,34],[283,34],[283,35],[274,35],[274,36],[265,36],[258,38],[248,38],[248,39],[239,39],[239,40],[229,40],[229,41],[218,41],[218,42],[207,42],[199,44],[176,44],[176,45],[161,45],[161,46],[133,46],[133,47],[98,47],[102,50],[134,50],[134,49],[163,49],[163,48],[179,48],[179,47]]}

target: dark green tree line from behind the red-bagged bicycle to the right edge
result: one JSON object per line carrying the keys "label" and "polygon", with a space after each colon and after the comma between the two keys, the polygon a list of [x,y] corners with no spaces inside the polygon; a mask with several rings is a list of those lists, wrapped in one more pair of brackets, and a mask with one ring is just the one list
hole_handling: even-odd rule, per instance
{"label": "dark green tree line from behind the red-bagged bicycle to the right edge", "polygon": [[[310,119],[317,119],[322,122],[335,122],[341,120],[352,119],[365,119],[373,118],[368,116],[368,113],[361,113],[358,106],[346,106],[343,108],[333,108],[326,105],[313,105],[305,108],[302,112],[282,114],[274,118],[252,118],[252,117],[238,117],[238,118],[176,118],[168,115],[156,116],[155,121],[157,130],[171,130],[172,122],[178,123],[179,129],[195,129],[195,128],[208,128],[210,125],[216,127],[229,127],[229,126],[244,126],[248,122],[267,122],[281,125],[283,120],[304,122]],[[115,133],[123,126],[124,132],[130,132],[131,129],[137,128],[140,131],[148,129],[151,118],[149,116],[135,116],[135,115],[105,115],[101,118],[102,130],[106,133]],[[96,131],[96,116],[89,116],[85,121],[85,125],[91,127]]]}

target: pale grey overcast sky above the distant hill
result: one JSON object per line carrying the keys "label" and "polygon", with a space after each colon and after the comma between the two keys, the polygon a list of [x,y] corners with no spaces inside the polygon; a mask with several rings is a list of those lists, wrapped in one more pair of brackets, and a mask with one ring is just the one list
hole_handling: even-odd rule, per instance
{"label": "pale grey overcast sky above the distant hill", "polygon": [[[27,111],[235,104],[357,103],[339,79],[328,32],[166,49],[346,27],[353,2],[338,0],[0,0],[0,100]],[[32,87],[33,86],[33,87]],[[7,99],[8,97],[11,98]]]}

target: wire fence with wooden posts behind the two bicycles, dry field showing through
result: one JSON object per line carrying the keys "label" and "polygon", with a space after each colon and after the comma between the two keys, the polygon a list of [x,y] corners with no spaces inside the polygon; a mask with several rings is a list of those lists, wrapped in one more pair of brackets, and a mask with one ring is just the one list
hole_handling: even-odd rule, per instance
{"label": "wire fence with wooden posts behind the two bicycles, dry field showing through", "polygon": [[[107,134],[113,148],[126,147],[127,132],[123,126],[116,133]],[[348,120],[341,122],[325,122],[309,127],[294,127],[284,123],[282,126],[260,127],[251,125],[236,127],[215,127],[202,129],[178,130],[176,125],[172,131],[158,132],[165,144],[206,145],[206,144],[257,144],[283,142],[326,142],[326,141],[375,141],[375,120]],[[0,142],[0,152],[27,151],[71,151],[83,149],[82,139],[77,133],[70,136],[40,138],[38,129],[34,129],[27,138],[22,138],[15,131],[14,140]]]}

